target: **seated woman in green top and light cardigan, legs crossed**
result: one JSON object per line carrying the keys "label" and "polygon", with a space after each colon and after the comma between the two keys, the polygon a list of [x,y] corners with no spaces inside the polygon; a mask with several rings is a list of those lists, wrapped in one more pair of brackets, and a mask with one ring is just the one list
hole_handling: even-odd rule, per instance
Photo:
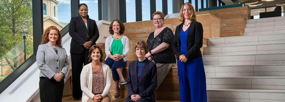
{"label": "seated woman in green top and light cardigan, legs crossed", "polygon": [[[126,84],[122,70],[127,67],[127,55],[129,54],[129,39],[122,34],[125,31],[125,25],[120,20],[113,20],[109,27],[112,34],[105,40],[105,64],[112,68],[112,76],[115,81],[115,99],[119,99],[119,83]],[[119,82],[120,81],[120,82]]]}

